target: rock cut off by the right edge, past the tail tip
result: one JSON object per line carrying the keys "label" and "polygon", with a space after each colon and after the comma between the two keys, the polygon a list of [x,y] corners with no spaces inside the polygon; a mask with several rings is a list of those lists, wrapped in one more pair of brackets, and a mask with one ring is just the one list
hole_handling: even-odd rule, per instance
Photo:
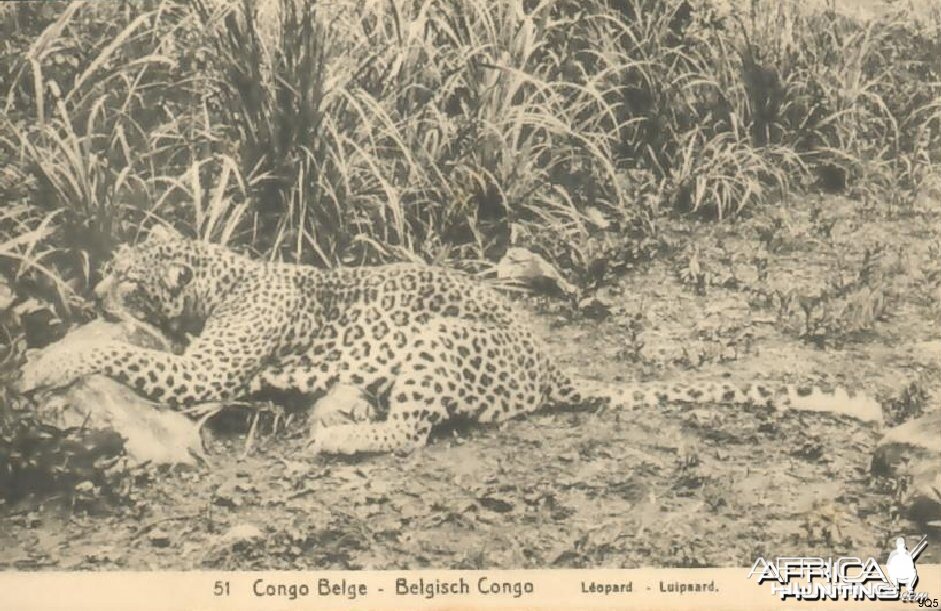
{"label": "rock cut off by the right edge, past the tail tip", "polygon": [[941,520],[941,410],[886,431],[873,453],[874,475],[910,478],[906,517],[919,524]]}

